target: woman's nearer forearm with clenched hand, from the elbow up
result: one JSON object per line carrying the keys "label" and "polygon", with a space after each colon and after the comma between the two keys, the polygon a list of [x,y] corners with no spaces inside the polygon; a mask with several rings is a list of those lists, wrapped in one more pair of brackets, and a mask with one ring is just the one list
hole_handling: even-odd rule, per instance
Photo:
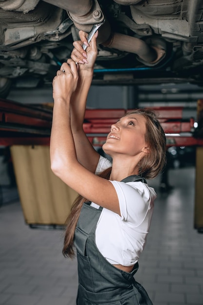
{"label": "woman's nearer forearm with clenched hand, from the elbow up", "polygon": [[76,159],[71,131],[70,100],[77,88],[78,71],[73,60],[63,63],[53,79],[53,119],[50,139],[50,158],[53,172],[63,170]]}

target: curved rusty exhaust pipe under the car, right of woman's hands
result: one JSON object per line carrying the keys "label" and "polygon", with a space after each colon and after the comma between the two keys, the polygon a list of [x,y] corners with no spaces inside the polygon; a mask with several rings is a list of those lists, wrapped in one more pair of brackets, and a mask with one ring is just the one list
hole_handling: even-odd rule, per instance
{"label": "curved rusty exhaust pipe under the car, right of woman's hands", "polygon": [[111,39],[102,44],[108,48],[137,54],[146,62],[153,62],[157,58],[155,49],[136,37],[113,33]]}

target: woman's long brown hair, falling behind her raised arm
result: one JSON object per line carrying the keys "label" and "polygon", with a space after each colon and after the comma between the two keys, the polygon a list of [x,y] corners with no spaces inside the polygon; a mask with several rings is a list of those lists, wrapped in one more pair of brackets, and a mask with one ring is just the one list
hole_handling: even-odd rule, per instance
{"label": "woman's long brown hair, falling behind her raised arm", "polygon": [[[166,164],[166,136],[158,121],[157,115],[151,109],[137,109],[128,114],[140,114],[146,118],[145,141],[150,153],[138,163],[139,175],[146,179],[155,178]],[[111,168],[99,174],[102,178],[109,179]],[[74,231],[82,209],[83,203],[88,199],[78,195],[66,220],[66,230],[62,253],[66,257],[74,258]]]}

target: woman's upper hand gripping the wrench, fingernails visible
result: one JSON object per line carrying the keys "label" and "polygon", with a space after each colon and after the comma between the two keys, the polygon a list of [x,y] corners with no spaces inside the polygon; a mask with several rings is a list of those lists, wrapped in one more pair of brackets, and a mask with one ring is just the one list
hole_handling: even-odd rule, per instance
{"label": "woman's upper hand gripping the wrench, fingernails visible", "polygon": [[[93,71],[94,63],[98,54],[96,46],[98,31],[94,34],[90,43],[87,41],[87,33],[79,31],[79,36],[81,40],[74,41],[74,49],[72,51],[71,58],[79,64],[79,71]],[[86,51],[84,51],[82,48],[83,43],[87,45]]]}

